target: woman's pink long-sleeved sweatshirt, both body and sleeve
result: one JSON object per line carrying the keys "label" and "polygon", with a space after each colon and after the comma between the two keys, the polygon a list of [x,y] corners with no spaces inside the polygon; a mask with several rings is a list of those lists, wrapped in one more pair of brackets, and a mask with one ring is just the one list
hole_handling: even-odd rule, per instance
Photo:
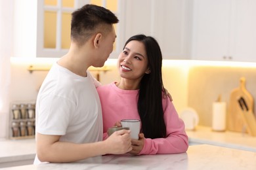
{"label": "woman's pink long-sleeved sweatshirt, both body and sleeve", "polygon": [[[104,139],[109,127],[113,127],[117,121],[122,119],[139,119],[137,110],[137,93],[139,90],[121,90],[115,82],[99,86],[98,95],[102,106]],[[188,149],[188,136],[184,131],[184,122],[179,118],[173,103],[163,99],[166,138],[145,139],[144,147],[139,154],[175,154],[186,152]]]}

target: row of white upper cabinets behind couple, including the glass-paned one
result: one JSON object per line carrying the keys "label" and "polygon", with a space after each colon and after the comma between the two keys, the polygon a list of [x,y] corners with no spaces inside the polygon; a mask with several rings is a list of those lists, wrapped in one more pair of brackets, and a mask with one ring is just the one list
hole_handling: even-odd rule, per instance
{"label": "row of white upper cabinets behind couple, including the glass-paned one", "polygon": [[144,33],[158,40],[164,59],[189,59],[192,3],[188,0],[14,1],[14,57],[58,58],[66,54],[71,13],[86,3],[106,7],[119,18],[110,58],[118,57],[129,37]]}

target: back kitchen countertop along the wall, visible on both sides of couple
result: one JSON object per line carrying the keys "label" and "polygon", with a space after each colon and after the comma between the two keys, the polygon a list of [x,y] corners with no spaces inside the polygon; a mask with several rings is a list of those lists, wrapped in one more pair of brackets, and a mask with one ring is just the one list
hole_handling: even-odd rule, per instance
{"label": "back kitchen countertop along the wall, visible on both sides of couple", "polygon": [[[211,127],[197,126],[186,131],[190,147],[194,144],[211,144],[256,152],[256,137],[232,131],[217,132]],[[0,140],[0,168],[28,165],[35,158],[35,139]]]}

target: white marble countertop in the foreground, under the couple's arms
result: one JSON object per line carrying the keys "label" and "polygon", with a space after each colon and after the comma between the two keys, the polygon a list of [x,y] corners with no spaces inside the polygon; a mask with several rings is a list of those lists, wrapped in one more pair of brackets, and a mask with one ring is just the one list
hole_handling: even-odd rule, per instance
{"label": "white marble countertop in the foreground, under the couple's arms", "polygon": [[45,163],[6,169],[256,169],[256,152],[200,144],[182,154],[108,155],[76,163]]}

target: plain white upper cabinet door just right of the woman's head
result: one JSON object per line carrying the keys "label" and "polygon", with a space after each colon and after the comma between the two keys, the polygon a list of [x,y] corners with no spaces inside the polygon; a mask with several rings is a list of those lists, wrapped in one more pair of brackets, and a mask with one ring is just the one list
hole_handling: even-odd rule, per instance
{"label": "plain white upper cabinet door just right of the woman's head", "polygon": [[189,59],[191,6],[185,0],[154,1],[152,35],[158,39],[163,58]]}

